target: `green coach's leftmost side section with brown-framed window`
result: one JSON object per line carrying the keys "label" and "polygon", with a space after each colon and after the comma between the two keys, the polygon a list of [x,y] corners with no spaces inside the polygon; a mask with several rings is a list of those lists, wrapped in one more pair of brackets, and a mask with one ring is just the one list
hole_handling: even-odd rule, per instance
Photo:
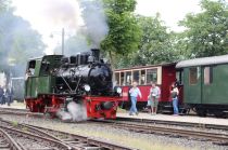
{"label": "green coach's leftmost side section with brown-framed window", "polygon": [[185,99],[188,104],[202,103],[202,70],[201,67],[185,69]]}

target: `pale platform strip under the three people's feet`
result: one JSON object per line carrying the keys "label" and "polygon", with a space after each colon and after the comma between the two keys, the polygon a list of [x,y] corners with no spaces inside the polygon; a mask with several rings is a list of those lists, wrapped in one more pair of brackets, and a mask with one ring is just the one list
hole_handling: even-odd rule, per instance
{"label": "pale platform strip under the three people's feet", "polygon": [[130,119],[141,119],[141,120],[157,120],[157,121],[172,121],[172,122],[188,122],[198,124],[212,124],[212,125],[227,125],[228,119],[217,119],[217,118],[201,118],[197,115],[170,115],[170,114],[156,114],[151,115],[149,113],[139,113],[138,115],[129,115],[128,113],[118,112],[118,118],[130,118]]}

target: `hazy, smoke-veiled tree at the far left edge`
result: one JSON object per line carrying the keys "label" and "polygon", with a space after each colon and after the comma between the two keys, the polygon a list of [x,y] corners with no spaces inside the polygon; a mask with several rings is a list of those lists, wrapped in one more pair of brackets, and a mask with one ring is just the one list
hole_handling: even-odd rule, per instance
{"label": "hazy, smoke-veiled tree at the far left edge", "polygon": [[24,73],[28,58],[43,55],[41,36],[30,28],[28,22],[13,15],[8,9],[0,14],[0,69],[9,71],[9,65],[17,65]]}

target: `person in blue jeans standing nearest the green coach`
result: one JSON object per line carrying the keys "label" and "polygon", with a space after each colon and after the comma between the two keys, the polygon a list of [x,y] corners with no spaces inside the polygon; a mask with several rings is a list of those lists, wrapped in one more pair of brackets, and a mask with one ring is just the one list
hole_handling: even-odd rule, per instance
{"label": "person in blue jeans standing nearest the green coach", "polygon": [[172,87],[170,87],[170,97],[172,97],[172,103],[173,103],[173,108],[174,108],[174,115],[179,114],[178,95],[179,95],[179,90],[178,90],[176,83],[173,83]]}

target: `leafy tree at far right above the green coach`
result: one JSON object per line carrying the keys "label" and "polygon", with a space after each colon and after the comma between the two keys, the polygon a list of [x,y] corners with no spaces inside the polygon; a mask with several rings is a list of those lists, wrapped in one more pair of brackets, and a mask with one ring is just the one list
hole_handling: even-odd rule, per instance
{"label": "leafy tree at far right above the green coach", "polygon": [[191,57],[228,53],[228,4],[226,1],[201,1],[202,12],[188,14],[179,24],[186,27],[180,42]]}

